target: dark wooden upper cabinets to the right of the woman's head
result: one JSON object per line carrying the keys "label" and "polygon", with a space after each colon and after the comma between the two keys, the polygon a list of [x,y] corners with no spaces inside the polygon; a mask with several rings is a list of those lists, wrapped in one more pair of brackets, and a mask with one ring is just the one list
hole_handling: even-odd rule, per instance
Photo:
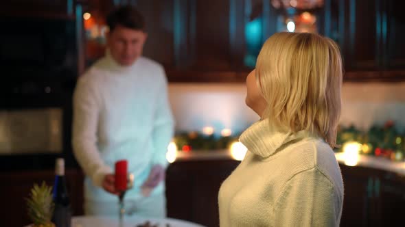
{"label": "dark wooden upper cabinets to the right of the woman's head", "polygon": [[[340,45],[345,81],[405,79],[404,1],[325,1],[325,35]],[[328,17],[325,17],[328,18]]]}

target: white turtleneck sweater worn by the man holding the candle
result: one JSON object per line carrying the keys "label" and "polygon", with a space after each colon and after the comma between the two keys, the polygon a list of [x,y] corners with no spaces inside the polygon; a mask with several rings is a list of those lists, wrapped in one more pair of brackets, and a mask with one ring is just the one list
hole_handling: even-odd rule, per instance
{"label": "white turtleneck sweater worn by the man holding the candle", "polygon": [[[86,174],[86,200],[117,200],[101,185],[119,159],[135,174],[126,198],[139,195],[152,165],[167,165],[174,122],[165,72],[156,62],[139,57],[120,66],[107,53],[78,79],[73,110],[73,151]],[[161,183],[152,193],[163,191]]]}

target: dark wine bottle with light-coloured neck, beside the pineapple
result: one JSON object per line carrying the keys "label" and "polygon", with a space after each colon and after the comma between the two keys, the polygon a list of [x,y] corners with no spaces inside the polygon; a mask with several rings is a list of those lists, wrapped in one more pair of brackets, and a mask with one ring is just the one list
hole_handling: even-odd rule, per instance
{"label": "dark wine bottle with light-coloured neck, beside the pineapple", "polygon": [[58,227],[70,227],[71,206],[65,178],[65,160],[60,158],[56,159],[53,199],[55,210],[52,222]]}

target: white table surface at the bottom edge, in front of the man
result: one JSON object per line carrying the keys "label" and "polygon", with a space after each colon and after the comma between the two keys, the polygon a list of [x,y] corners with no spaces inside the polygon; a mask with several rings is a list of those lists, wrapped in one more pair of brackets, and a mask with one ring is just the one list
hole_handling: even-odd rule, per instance
{"label": "white table surface at the bottom edge, in front of the man", "polygon": [[[148,218],[139,216],[124,217],[123,227],[136,227],[149,221],[158,227],[203,227],[199,224],[172,218]],[[80,216],[72,218],[71,227],[120,227],[118,217]]]}

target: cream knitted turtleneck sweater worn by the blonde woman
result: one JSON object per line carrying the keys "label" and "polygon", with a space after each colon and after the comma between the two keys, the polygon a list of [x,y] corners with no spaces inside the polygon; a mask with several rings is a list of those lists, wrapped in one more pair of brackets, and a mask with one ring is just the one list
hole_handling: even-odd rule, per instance
{"label": "cream knitted turtleneck sweater worn by the blonde woman", "polygon": [[240,136],[246,157],[220,187],[220,226],[339,226],[343,180],[333,150],[267,120]]}

